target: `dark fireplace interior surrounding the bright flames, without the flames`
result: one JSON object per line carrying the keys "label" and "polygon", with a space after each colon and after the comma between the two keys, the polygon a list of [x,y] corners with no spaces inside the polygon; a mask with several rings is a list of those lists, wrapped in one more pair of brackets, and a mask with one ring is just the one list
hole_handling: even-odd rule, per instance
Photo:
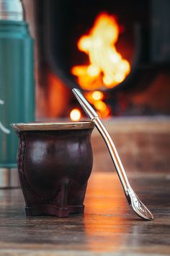
{"label": "dark fireplace interior surrounding the bright flames, without the flames", "polygon": [[[170,114],[168,0],[37,0],[32,1],[32,8],[36,17],[38,90],[42,90],[46,101],[45,111],[39,111],[39,116],[68,116],[71,108],[78,106],[69,93],[69,88],[79,88],[71,67],[86,64],[88,57],[79,51],[77,42],[89,33],[101,12],[116,18],[120,33],[115,47],[131,67],[125,80],[102,92],[102,101],[109,106],[108,114]],[[66,99],[59,111],[57,95],[61,105]]]}

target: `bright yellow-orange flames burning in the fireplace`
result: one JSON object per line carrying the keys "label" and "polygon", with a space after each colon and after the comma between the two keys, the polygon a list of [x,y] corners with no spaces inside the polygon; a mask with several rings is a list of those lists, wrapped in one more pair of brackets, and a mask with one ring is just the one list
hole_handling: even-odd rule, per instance
{"label": "bright yellow-orange flames burning in the fireplace", "polygon": [[89,57],[89,64],[75,66],[71,73],[86,93],[86,98],[94,105],[100,116],[109,115],[109,107],[104,103],[104,94],[99,90],[114,88],[130,72],[130,64],[122,59],[115,48],[119,36],[119,25],[115,17],[107,13],[97,16],[88,35],[78,41],[78,48]]}

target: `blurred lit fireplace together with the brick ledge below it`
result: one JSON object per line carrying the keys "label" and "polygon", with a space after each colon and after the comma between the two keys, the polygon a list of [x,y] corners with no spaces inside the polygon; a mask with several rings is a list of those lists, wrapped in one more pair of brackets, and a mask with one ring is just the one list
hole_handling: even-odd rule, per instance
{"label": "blurred lit fireplace together with the brick ledge below it", "polygon": [[[36,118],[84,119],[71,88],[102,117],[128,171],[168,171],[170,2],[23,0],[35,38]],[[98,135],[94,170],[111,171]]]}

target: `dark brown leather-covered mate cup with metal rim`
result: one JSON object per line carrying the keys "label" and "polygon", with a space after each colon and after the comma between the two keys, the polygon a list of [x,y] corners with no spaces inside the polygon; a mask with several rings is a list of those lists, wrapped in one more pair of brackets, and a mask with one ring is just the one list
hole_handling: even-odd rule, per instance
{"label": "dark brown leather-covered mate cup with metal rim", "polygon": [[12,124],[27,216],[84,213],[93,165],[91,121]]}

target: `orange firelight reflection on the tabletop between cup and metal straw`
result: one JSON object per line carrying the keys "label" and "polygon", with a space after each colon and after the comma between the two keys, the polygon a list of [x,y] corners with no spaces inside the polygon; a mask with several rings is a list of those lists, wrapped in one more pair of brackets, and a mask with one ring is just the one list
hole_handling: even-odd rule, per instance
{"label": "orange firelight reflection on the tabletop between cup and metal straw", "polygon": [[112,173],[107,174],[107,179],[105,173],[99,173],[97,179],[92,176],[88,195],[85,205],[91,214],[84,216],[84,229],[89,249],[105,252],[106,248],[112,248],[111,251],[116,252],[117,247],[126,243],[128,233],[122,218],[129,209],[120,181]]}

